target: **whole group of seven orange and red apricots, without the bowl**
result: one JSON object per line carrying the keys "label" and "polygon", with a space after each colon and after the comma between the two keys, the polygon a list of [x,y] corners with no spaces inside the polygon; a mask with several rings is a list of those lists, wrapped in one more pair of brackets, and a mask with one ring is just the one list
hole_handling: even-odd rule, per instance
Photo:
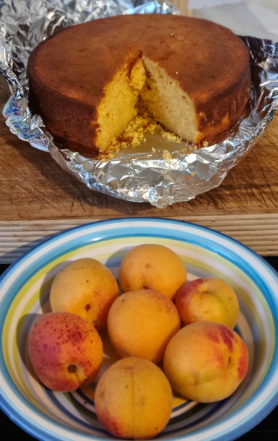
{"label": "whole group of seven orange and red apricots, without the bowl", "polygon": [[[98,420],[118,438],[158,435],[173,393],[215,402],[246,376],[235,291],[218,278],[187,280],[182,259],[164,245],[131,248],[118,280],[94,258],[68,263],[53,280],[50,307],[30,329],[36,376],[61,392],[93,383]],[[116,353],[108,365],[105,332]]]}

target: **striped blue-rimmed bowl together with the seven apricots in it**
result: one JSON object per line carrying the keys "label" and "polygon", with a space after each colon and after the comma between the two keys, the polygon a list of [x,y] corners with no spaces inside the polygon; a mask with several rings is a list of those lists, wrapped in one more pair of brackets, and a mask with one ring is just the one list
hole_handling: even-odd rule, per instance
{"label": "striped blue-rimmed bowl together with the seven apricots in it", "polygon": [[1,276],[1,409],[45,441],[235,440],[277,404],[277,287],[199,225],[65,230]]}

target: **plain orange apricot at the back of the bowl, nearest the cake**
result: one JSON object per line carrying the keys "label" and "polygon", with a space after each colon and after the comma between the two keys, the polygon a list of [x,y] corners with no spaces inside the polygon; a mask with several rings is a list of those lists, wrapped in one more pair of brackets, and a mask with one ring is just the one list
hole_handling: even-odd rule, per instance
{"label": "plain orange apricot at the back of the bowl, nearest the cake", "polygon": [[122,258],[118,280],[122,292],[155,289],[173,300],[176,291],[186,282],[186,269],[170,248],[142,244]]}

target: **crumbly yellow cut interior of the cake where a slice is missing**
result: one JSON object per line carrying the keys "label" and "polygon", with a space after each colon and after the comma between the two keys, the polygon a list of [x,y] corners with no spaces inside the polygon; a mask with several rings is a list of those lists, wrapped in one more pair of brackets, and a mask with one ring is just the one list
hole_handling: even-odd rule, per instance
{"label": "crumbly yellow cut interior of the cake where a slice is missing", "polygon": [[[179,82],[150,59],[138,57],[131,68],[126,63],[103,92],[94,122],[98,125],[96,145],[100,152],[106,152],[138,114],[153,117],[182,139],[196,139],[193,102]],[[140,121],[144,125],[145,119]]]}

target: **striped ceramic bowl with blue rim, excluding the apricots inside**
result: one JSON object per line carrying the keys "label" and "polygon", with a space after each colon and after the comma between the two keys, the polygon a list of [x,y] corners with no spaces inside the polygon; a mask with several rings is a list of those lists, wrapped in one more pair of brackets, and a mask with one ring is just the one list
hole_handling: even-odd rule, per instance
{"label": "striped ceramic bowl with blue rim, excluding the apricots inside", "polygon": [[174,398],[171,420],[156,439],[234,440],[277,404],[277,272],[248,247],[205,227],[161,218],[105,220],[52,236],[10,265],[0,279],[0,406],[34,438],[114,438],[96,418],[94,385],[55,393],[37,380],[28,356],[28,333],[38,314],[50,311],[50,285],[61,267],[93,257],[117,277],[122,257],[141,243],[173,249],[184,261],[189,280],[214,276],[235,289],[240,306],[235,330],[250,357],[246,378],[226,400],[198,404]]}

